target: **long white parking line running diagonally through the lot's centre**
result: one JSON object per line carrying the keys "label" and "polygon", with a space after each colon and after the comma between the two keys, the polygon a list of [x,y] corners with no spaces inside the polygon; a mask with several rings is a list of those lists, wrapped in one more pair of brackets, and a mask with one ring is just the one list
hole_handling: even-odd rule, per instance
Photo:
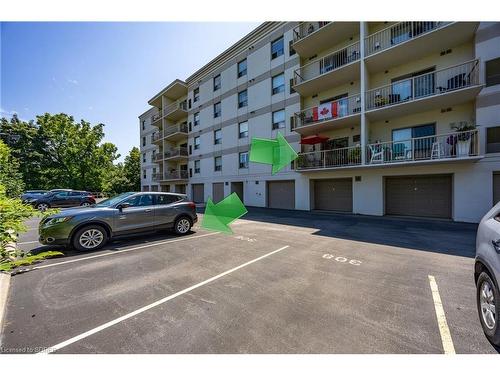
{"label": "long white parking line running diagonally through the lot's centre", "polygon": [[71,339],[63,341],[63,342],[61,342],[61,343],[59,343],[57,345],[51,346],[50,348],[47,348],[44,351],[39,352],[38,354],[48,354],[48,353],[55,352],[56,350],[62,349],[64,347],[68,346],[68,345],[71,345],[71,344],[73,344],[73,343],[75,343],[77,341],[80,341],[80,340],[82,340],[82,339],[84,339],[86,337],[89,337],[89,336],[93,335],[94,333],[100,332],[100,331],[102,331],[102,330],[104,330],[106,328],[114,326],[115,324],[118,324],[120,322],[123,322],[124,320],[130,319],[130,318],[132,318],[132,317],[134,317],[136,315],[139,315],[140,313],[143,313],[143,312],[145,312],[147,310],[150,310],[153,307],[159,306],[159,305],[161,305],[161,304],[163,304],[163,303],[165,303],[167,301],[170,301],[170,300],[172,300],[172,299],[174,299],[176,297],[179,297],[179,296],[181,296],[183,294],[186,294],[186,293],[188,293],[188,292],[190,292],[190,291],[192,291],[194,289],[197,289],[197,288],[199,288],[199,287],[201,287],[203,285],[211,283],[212,281],[220,279],[221,277],[229,275],[230,273],[232,273],[234,271],[237,271],[237,270],[239,270],[239,269],[241,269],[243,267],[249,266],[252,263],[258,262],[259,260],[262,260],[262,259],[267,258],[267,257],[269,257],[269,256],[271,256],[273,254],[276,254],[276,253],[278,253],[278,252],[280,252],[282,250],[285,250],[288,247],[289,247],[288,245],[280,247],[277,250],[271,251],[270,253],[267,253],[267,254],[264,254],[264,255],[262,255],[262,256],[260,256],[258,258],[252,259],[252,260],[250,260],[250,261],[248,261],[246,263],[243,263],[243,264],[241,264],[241,265],[239,265],[237,267],[231,268],[230,270],[227,270],[227,271],[222,272],[222,273],[220,273],[220,274],[218,274],[216,276],[213,276],[213,277],[211,277],[211,278],[209,278],[209,279],[207,279],[205,281],[202,281],[201,283],[198,283],[198,284],[195,284],[193,286],[190,286],[190,287],[188,287],[186,289],[183,289],[183,290],[181,290],[181,291],[179,291],[177,293],[171,294],[171,295],[169,295],[169,296],[167,296],[165,298],[162,298],[162,299],[160,299],[160,300],[158,300],[156,302],[153,302],[153,303],[151,303],[149,305],[141,307],[140,309],[132,311],[132,312],[126,314],[126,315],[123,315],[123,316],[121,316],[121,317],[119,317],[117,319],[111,320],[108,323],[102,324],[102,325],[100,325],[100,326],[98,326],[98,327],[96,327],[94,329],[91,329],[90,331],[84,332],[84,333],[82,333],[82,334],[80,334],[78,336],[75,336],[75,337],[73,337]]}

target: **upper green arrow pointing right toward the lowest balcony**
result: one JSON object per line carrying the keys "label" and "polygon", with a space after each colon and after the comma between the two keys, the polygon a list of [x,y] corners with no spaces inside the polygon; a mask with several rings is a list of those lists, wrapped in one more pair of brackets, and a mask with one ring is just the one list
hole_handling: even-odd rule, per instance
{"label": "upper green arrow pointing right toward the lowest balcony", "polygon": [[276,139],[252,138],[250,161],[271,164],[272,174],[278,173],[297,157],[297,153],[281,133],[278,133]]}

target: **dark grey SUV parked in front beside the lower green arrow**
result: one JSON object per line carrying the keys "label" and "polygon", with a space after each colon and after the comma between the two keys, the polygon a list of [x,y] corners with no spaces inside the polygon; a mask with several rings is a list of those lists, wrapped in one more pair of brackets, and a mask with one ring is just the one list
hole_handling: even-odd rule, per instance
{"label": "dark grey SUV parked in front beside the lower green arrow", "polygon": [[116,237],[173,229],[183,235],[198,221],[196,206],[184,194],[124,193],[90,208],[74,208],[50,215],[40,222],[39,241],[44,245],[96,250]]}

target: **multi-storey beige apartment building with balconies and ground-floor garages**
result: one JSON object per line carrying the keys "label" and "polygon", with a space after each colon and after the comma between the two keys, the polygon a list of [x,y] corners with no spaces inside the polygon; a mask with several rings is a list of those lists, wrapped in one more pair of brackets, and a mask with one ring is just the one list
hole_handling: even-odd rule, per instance
{"label": "multi-storey beige apartment building with balconies and ground-floor garages", "polygon": [[[149,104],[160,187],[182,167],[197,202],[477,222],[500,199],[499,23],[266,22]],[[273,176],[248,151],[277,132],[299,158]]]}

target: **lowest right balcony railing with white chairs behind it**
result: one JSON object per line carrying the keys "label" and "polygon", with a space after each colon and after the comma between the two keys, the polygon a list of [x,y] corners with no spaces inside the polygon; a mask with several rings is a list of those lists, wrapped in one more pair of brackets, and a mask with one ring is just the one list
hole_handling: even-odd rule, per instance
{"label": "lowest right balcony railing with white chairs behind it", "polygon": [[367,145],[367,164],[468,158],[479,155],[477,129]]}

